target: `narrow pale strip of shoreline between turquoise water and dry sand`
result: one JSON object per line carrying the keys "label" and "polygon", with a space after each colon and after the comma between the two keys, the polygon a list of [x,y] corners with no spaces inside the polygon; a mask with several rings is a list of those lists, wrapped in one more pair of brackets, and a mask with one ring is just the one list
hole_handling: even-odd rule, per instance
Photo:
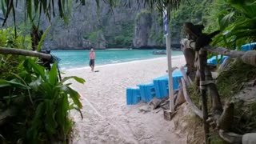
{"label": "narrow pale strip of shoreline between turquoise water and dry sand", "polygon": [[[171,59],[177,59],[177,58],[182,58],[184,57],[184,55],[175,55],[172,56]],[[94,69],[96,68],[102,68],[102,67],[107,67],[107,66],[119,66],[119,65],[125,65],[125,64],[129,64],[129,63],[138,63],[138,62],[150,62],[150,61],[155,61],[155,60],[160,60],[160,59],[166,59],[167,60],[167,56],[166,57],[161,57],[161,58],[148,58],[148,59],[141,59],[141,60],[134,60],[134,61],[128,61],[128,62],[117,62],[117,63],[110,63],[110,64],[102,64],[102,65],[98,65],[95,66]],[[87,70],[90,69],[90,66],[82,66],[82,67],[74,67],[74,68],[68,68],[68,69],[64,69],[62,70],[63,72],[68,72],[68,71],[73,71],[73,70]]]}

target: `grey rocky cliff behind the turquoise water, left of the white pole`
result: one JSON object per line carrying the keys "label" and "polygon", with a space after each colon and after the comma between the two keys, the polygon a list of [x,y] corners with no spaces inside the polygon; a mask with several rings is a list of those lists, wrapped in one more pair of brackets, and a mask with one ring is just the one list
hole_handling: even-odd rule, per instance
{"label": "grey rocky cliff behind the turquoise water, left of the white pole", "polygon": [[[95,1],[74,6],[69,23],[55,18],[44,47],[50,49],[98,49],[163,46],[162,26],[158,15],[136,2],[113,10],[104,3],[97,9]],[[46,25],[45,25],[46,27]]]}

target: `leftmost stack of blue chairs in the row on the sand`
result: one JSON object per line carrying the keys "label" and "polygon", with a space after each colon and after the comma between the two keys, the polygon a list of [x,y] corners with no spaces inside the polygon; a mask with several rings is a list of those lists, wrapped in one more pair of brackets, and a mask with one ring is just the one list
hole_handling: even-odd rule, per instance
{"label": "leftmost stack of blue chairs in the row on the sand", "polygon": [[126,89],[126,103],[127,105],[135,105],[141,101],[141,95],[138,87]]}

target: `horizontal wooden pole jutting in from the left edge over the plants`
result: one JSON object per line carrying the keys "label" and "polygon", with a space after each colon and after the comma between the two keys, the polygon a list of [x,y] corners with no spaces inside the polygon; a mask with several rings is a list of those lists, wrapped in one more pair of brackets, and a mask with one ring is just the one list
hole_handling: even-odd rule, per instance
{"label": "horizontal wooden pole jutting in from the left edge over the plants", "polygon": [[16,54],[16,55],[24,55],[24,56],[30,56],[30,57],[45,58],[49,60],[52,58],[50,54],[43,54],[43,53],[31,51],[31,50],[21,50],[17,48],[6,48],[6,47],[0,47],[0,54]]}

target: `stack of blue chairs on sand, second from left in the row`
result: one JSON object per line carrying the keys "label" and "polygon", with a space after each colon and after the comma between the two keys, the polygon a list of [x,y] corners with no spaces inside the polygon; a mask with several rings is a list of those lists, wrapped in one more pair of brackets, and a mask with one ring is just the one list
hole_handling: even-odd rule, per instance
{"label": "stack of blue chairs on sand, second from left in the row", "polygon": [[141,94],[142,102],[150,102],[152,98],[154,98],[154,84],[139,84],[139,91]]}

